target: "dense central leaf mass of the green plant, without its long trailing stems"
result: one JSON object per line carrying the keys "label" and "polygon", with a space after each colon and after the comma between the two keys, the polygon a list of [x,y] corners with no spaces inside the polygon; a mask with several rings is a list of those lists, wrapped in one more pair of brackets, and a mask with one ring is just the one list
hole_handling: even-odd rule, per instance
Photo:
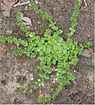
{"label": "dense central leaf mass of the green plant, without its long trailing stems", "polygon": [[[17,13],[17,19],[19,13]],[[22,23],[22,21],[18,21]],[[78,62],[78,54],[83,50],[83,48],[74,40],[67,39],[64,41],[60,34],[63,31],[55,26],[56,22],[50,23],[50,28],[46,29],[42,37],[38,35],[32,35],[26,38],[28,45],[21,48],[15,49],[16,54],[24,54],[30,58],[38,57],[40,64],[38,66],[39,70],[39,79],[37,83],[42,85],[45,80],[48,80],[50,75],[53,72],[52,66],[56,66],[56,80],[59,82],[64,80],[66,77],[67,80],[72,80],[74,77],[69,71],[70,65],[76,65]],[[18,25],[19,25],[18,24]],[[52,24],[54,24],[54,31],[52,33]],[[24,25],[24,24],[23,24]],[[21,28],[21,25],[19,25]],[[22,29],[22,28],[21,28]],[[28,32],[28,31],[27,31]],[[26,34],[27,34],[26,32]],[[20,53],[19,52],[23,52]],[[65,82],[65,81],[64,81]]]}

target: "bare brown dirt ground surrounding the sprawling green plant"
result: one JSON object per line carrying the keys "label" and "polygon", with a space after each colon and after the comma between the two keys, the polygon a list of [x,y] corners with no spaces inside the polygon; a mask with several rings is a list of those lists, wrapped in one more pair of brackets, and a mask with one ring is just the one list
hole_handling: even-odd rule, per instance
{"label": "bare brown dirt ground surrounding the sprawling green plant", "polygon": [[[58,26],[64,31],[62,37],[65,37],[68,32],[75,1],[34,0],[58,22]],[[0,3],[2,2],[3,0],[0,0]],[[86,0],[86,2],[87,6],[84,2],[82,3],[74,38],[79,42],[86,40],[94,42],[94,0]],[[48,23],[43,21],[33,10],[27,9],[25,5],[13,7],[10,17],[5,17],[0,8],[0,34],[23,36],[16,25],[16,11],[22,11],[25,16],[31,18],[31,31],[39,34],[44,32]],[[39,94],[38,88],[34,87],[37,60],[24,56],[16,57],[13,54],[13,48],[14,45],[0,42],[0,104],[34,104],[34,99]],[[72,72],[76,79],[65,86],[59,96],[48,104],[94,104],[93,54],[91,57],[80,56],[78,64],[72,67]],[[26,87],[26,90],[17,90],[21,86]],[[49,86],[44,87],[43,94],[49,95],[49,89]]]}

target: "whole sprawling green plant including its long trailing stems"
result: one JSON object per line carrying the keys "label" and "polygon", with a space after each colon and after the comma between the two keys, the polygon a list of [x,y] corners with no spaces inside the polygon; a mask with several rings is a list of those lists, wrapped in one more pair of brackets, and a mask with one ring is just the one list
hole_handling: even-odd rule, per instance
{"label": "whole sprawling green plant including its long trailing stems", "polygon": [[14,49],[16,55],[26,55],[30,58],[37,57],[39,59],[40,63],[37,67],[39,74],[36,85],[41,86],[45,81],[49,80],[53,72],[52,66],[55,66],[55,78],[59,83],[58,88],[56,88],[56,91],[52,96],[38,98],[37,101],[39,103],[54,99],[62,91],[63,87],[74,79],[74,76],[70,72],[70,66],[77,64],[79,60],[78,55],[84,48],[89,46],[85,45],[84,47],[84,45],[76,42],[71,37],[75,33],[80,6],[81,0],[77,0],[71,17],[70,32],[65,41],[61,37],[63,31],[57,27],[57,23],[52,17],[32,2],[29,3],[29,7],[32,7],[36,13],[50,23],[48,29],[44,32],[44,35],[38,36],[35,32],[30,32],[21,19],[23,15],[21,12],[17,12],[16,19],[18,26],[21,31],[25,33],[26,38],[21,39],[0,35],[0,41],[17,45],[17,48]]}

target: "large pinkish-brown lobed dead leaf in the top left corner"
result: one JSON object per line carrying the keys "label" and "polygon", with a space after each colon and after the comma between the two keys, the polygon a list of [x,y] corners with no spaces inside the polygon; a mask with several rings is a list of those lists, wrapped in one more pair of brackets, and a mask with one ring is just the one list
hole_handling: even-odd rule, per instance
{"label": "large pinkish-brown lobed dead leaf in the top left corner", "polygon": [[10,16],[10,11],[12,9],[12,6],[17,2],[18,0],[3,0],[3,3],[1,3],[1,9],[3,10],[3,14],[6,17]]}

